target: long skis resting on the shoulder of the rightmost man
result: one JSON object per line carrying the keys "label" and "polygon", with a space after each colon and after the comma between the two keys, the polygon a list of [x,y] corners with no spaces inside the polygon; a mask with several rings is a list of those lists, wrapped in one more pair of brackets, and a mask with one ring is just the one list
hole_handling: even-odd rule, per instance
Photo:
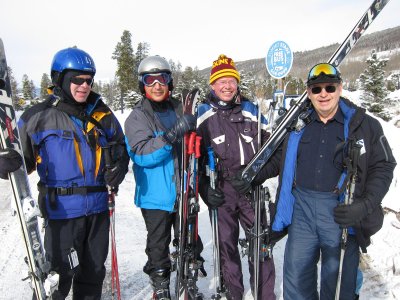
{"label": "long skis resting on the shoulder of the rightmost man", "polygon": [[[343,59],[349,54],[351,49],[360,39],[362,34],[367,30],[371,23],[375,20],[378,14],[382,11],[389,0],[374,0],[368,10],[363,14],[361,19],[357,22],[356,26],[351,30],[350,34],[346,37],[344,42],[335,51],[328,63],[339,66]],[[297,100],[290,110],[285,114],[282,121],[280,121],[277,128],[273,131],[268,141],[256,153],[253,159],[249,162],[243,170],[242,177],[248,182],[251,182],[258,174],[261,168],[270,159],[272,154],[284,140],[285,136],[293,130],[299,130],[304,126],[302,117],[305,117],[302,112],[306,107],[307,93],[304,92]]]}

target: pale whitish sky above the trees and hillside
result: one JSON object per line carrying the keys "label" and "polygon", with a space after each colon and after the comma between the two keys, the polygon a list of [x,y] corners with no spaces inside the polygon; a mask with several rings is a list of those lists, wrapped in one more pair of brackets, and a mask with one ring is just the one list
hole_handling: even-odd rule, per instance
{"label": "pale whitish sky above the trees and hillside", "polygon": [[[150,44],[183,66],[209,67],[219,54],[235,61],[264,58],[276,40],[292,51],[342,42],[368,0],[13,0],[1,4],[0,37],[8,64],[39,84],[54,54],[78,46],[97,66],[96,79],[114,77],[111,59],[122,32],[133,46]],[[367,33],[400,25],[400,1],[391,0]]]}

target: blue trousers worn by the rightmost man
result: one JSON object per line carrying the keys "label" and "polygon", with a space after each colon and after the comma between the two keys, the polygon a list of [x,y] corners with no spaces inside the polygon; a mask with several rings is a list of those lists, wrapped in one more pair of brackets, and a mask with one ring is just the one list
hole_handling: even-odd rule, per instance
{"label": "blue trousers worn by the rightmost man", "polygon": [[[283,267],[284,299],[335,299],[342,232],[333,218],[333,209],[338,204],[337,195],[299,187],[293,190],[293,195],[296,201]],[[341,300],[354,299],[358,263],[358,245],[355,237],[349,236],[343,263]]]}

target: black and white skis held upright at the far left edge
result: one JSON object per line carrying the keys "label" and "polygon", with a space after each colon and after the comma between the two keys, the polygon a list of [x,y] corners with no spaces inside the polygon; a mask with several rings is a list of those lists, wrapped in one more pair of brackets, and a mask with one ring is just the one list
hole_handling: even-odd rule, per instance
{"label": "black and white skis held upright at the far left edge", "polygon": [[[16,124],[15,110],[11,99],[10,78],[3,41],[0,39],[0,136],[1,148],[13,148],[22,155],[22,148]],[[25,163],[17,171],[10,173],[16,213],[22,229],[26,247],[26,262],[29,266],[31,288],[38,300],[51,299],[52,291],[58,285],[58,274],[50,273],[50,263],[46,261],[40,236],[36,201],[32,198]]]}

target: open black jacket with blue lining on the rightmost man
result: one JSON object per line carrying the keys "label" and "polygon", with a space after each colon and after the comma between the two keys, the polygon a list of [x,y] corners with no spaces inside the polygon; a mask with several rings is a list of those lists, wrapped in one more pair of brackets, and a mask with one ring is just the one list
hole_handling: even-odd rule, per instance
{"label": "open black jacket with blue lining on the rightmost man", "polygon": [[[355,201],[366,201],[369,215],[355,226],[357,240],[363,251],[370,243],[370,237],[382,226],[383,214],[381,202],[391,184],[396,160],[383,133],[379,121],[365,113],[346,98],[340,98],[339,108],[344,115],[344,136],[346,141],[363,141],[363,148],[358,162],[358,180],[355,188]],[[304,129],[303,129],[304,130]],[[302,131],[291,132],[282,147],[262,168],[254,182],[279,176],[277,191],[277,212],[272,229],[285,231],[291,224],[295,198],[292,188],[296,185],[297,147]],[[343,183],[338,179],[338,187]],[[338,195],[339,196],[339,195]],[[333,212],[332,212],[333,213]]]}

